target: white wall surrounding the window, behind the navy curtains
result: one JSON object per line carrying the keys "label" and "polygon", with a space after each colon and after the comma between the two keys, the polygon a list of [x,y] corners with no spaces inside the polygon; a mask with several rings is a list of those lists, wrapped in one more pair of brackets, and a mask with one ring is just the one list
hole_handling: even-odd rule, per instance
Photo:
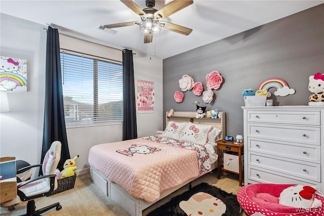
{"label": "white wall surrounding the window, behind the navy curtains", "polygon": [[[44,27],[47,28],[47,26],[1,14],[0,54],[27,60],[28,91],[8,95],[11,112],[0,114],[0,156],[14,156],[30,164],[39,163],[42,152],[47,37]],[[93,47],[99,46],[64,38],[60,35],[60,45],[66,49],[68,44],[72,46],[73,43],[83,47],[84,52],[92,52]],[[103,50],[107,55],[103,57],[121,60],[118,59],[121,57],[121,51],[104,47]],[[163,127],[163,60],[154,57],[150,60],[149,56],[142,55],[136,50],[133,52],[136,53],[135,79],[151,81],[155,85],[154,113],[137,114],[138,136],[141,137],[155,134],[156,130],[161,130]],[[122,125],[68,128],[67,138],[71,157],[79,155],[76,161],[78,171],[85,172],[89,167],[90,148],[99,143],[120,141]]]}

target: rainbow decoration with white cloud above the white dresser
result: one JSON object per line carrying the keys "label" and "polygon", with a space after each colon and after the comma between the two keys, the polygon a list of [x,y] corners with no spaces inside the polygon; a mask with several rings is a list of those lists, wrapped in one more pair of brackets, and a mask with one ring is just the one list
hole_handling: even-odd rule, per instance
{"label": "rainbow decoration with white cloud above the white dresser", "polygon": [[[274,95],[276,96],[287,96],[289,94],[295,94],[295,90],[289,88],[288,84],[279,78],[272,78],[264,81],[259,85],[258,90],[264,89],[266,91],[269,90],[269,88],[276,88],[277,91],[274,92]],[[271,93],[268,91],[268,96],[270,97]]]}

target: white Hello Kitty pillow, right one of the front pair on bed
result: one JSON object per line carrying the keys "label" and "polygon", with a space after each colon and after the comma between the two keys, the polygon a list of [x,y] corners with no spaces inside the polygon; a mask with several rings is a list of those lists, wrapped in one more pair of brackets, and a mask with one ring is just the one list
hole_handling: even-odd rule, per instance
{"label": "white Hello Kitty pillow, right one of the front pair on bed", "polygon": [[198,125],[188,122],[180,134],[180,139],[205,145],[208,139],[208,133],[211,129],[212,125]]}

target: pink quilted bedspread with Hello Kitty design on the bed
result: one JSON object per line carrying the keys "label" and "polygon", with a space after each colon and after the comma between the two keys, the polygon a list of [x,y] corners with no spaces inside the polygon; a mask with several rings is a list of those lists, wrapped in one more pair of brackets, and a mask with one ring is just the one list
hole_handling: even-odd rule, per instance
{"label": "pink quilted bedspread with Hello Kitty design on the bed", "polygon": [[105,143],[89,163],[131,196],[154,202],[160,193],[211,171],[205,147],[159,136]]}

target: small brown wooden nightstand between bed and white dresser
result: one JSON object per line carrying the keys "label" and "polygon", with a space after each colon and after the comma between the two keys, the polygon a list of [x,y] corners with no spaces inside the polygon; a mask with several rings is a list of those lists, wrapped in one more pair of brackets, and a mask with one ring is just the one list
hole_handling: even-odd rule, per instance
{"label": "small brown wooden nightstand between bed and white dresser", "polygon": [[[217,178],[220,178],[221,176],[221,170],[226,170],[228,172],[233,172],[238,174],[238,179],[239,179],[239,186],[242,186],[242,153],[244,152],[244,142],[235,144],[233,141],[228,141],[226,140],[226,142],[223,142],[222,140],[219,140],[216,142],[217,143],[217,154],[218,154],[218,160],[217,160]],[[226,161],[224,161],[225,167],[224,165],[222,165],[221,161],[224,158],[224,152],[231,152],[231,153],[237,153],[237,160],[235,160],[235,155],[232,156],[232,159],[234,161],[234,163],[238,163],[237,166],[237,171],[230,169],[229,167],[227,167]],[[226,168],[227,167],[227,168]]]}

